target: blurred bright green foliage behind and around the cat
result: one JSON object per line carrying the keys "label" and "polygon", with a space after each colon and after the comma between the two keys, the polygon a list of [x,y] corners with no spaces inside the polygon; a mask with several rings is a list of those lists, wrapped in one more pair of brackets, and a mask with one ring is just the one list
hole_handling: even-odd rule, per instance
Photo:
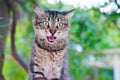
{"label": "blurred bright green foliage behind and around the cat", "polygon": [[[63,5],[62,3],[49,4],[46,0],[39,1],[41,6],[54,10],[70,10],[73,6]],[[32,3],[24,0],[26,9],[23,10],[19,5],[20,18],[17,24],[16,45],[19,54],[29,62],[32,43],[34,40],[34,30],[32,27]],[[73,80],[89,80],[94,76],[94,80],[113,80],[113,68],[99,68],[89,65],[90,56],[99,61],[109,59],[112,63],[111,55],[101,54],[101,51],[108,48],[120,47],[120,28],[117,24],[119,15],[117,13],[104,14],[100,8],[89,10],[77,8],[74,16],[70,19],[69,31],[69,67],[70,75]],[[29,13],[28,13],[29,12]],[[76,45],[81,46],[82,52],[76,49]],[[99,51],[93,54],[93,51]],[[4,75],[6,80],[25,80],[28,74],[10,56],[10,35],[7,38],[6,61],[4,64]]]}

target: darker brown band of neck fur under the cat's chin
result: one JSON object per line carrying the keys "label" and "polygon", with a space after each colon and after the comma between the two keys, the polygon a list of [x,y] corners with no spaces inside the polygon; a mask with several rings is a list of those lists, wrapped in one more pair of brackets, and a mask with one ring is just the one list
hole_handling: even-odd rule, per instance
{"label": "darker brown band of neck fur under the cat's chin", "polygon": [[37,36],[35,36],[34,42],[39,48],[47,50],[48,52],[60,52],[66,49],[68,44],[67,38],[49,43],[45,39],[39,39]]}

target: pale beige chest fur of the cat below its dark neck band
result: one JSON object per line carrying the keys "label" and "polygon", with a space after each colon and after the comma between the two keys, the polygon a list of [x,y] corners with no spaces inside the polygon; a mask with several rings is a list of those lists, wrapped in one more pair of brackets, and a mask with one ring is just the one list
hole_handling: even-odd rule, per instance
{"label": "pale beige chest fur of the cat below its dark neck band", "polygon": [[34,63],[39,65],[37,70],[39,71],[42,67],[44,75],[49,79],[55,74],[60,76],[65,54],[66,48],[60,52],[48,52],[44,49],[34,46],[31,58]]}

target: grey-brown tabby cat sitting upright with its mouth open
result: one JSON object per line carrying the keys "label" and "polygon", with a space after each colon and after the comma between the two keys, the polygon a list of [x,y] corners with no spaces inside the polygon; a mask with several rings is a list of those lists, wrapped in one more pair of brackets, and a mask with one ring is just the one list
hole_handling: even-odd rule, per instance
{"label": "grey-brown tabby cat sitting upright with its mouth open", "polygon": [[35,39],[30,60],[30,80],[67,80],[61,77],[67,64],[68,19],[74,9],[59,12],[35,6],[33,11]]}

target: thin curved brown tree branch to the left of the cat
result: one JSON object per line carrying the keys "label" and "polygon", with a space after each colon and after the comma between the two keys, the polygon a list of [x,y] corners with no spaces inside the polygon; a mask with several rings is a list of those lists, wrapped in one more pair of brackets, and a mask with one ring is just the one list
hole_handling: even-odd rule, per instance
{"label": "thin curved brown tree branch to the left of the cat", "polygon": [[21,58],[18,55],[16,46],[15,46],[15,32],[16,32],[16,24],[17,24],[17,10],[16,10],[16,6],[15,6],[15,2],[14,2],[14,0],[7,0],[7,1],[13,12],[13,22],[12,22],[12,26],[11,26],[11,55],[13,56],[13,58],[16,61],[18,61],[18,63],[25,69],[25,71],[28,72],[28,65],[23,60],[23,58]]}

